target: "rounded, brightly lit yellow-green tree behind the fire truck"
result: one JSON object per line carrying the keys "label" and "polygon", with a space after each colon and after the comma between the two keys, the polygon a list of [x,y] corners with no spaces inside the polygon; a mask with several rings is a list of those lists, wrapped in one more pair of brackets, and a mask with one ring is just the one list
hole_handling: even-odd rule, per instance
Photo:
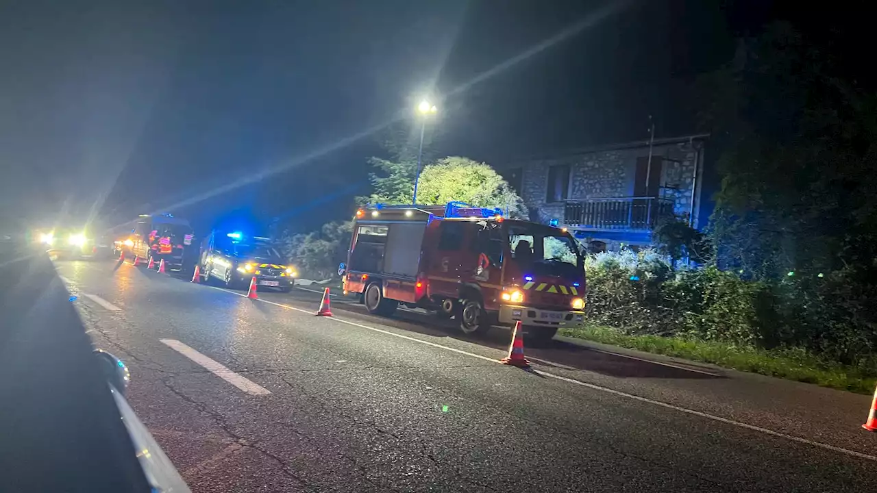
{"label": "rounded, brightly lit yellow-green tree behind the fire truck", "polygon": [[506,211],[510,218],[526,218],[524,200],[494,168],[483,162],[452,156],[424,168],[417,188],[420,204],[462,201],[477,207]]}

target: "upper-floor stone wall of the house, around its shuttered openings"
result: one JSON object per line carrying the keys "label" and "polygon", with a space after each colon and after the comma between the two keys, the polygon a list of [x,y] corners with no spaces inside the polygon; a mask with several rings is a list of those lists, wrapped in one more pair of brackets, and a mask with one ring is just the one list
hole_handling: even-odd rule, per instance
{"label": "upper-floor stone wall of the house, around its shuttered openings", "polygon": [[[660,176],[660,196],[674,201],[674,212],[679,217],[688,217],[691,210],[692,187],[695,187],[695,168],[698,180],[702,169],[702,142],[684,141],[674,144],[660,144],[652,148],[652,157],[664,158]],[[637,159],[647,157],[649,148],[645,146],[623,149],[595,151],[574,154],[567,157],[533,160],[519,164],[522,168],[522,185],[518,190],[524,203],[531,211],[531,220],[547,222],[551,218],[563,220],[564,203],[546,203],[548,168],[569,165],[570,180],[567,199],[592,199],[633,196]],[[695,190],[695,225],[700,226],[699,189]]]}

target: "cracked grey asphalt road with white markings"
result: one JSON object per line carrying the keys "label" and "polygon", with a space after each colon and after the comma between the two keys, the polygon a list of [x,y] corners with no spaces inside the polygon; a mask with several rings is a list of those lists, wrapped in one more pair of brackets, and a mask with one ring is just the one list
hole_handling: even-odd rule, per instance
{"label": "cracked grey asphalt road with white markings", "polygon": [[193,491],[875,491],[870,399],[417,311],[57,262]]}

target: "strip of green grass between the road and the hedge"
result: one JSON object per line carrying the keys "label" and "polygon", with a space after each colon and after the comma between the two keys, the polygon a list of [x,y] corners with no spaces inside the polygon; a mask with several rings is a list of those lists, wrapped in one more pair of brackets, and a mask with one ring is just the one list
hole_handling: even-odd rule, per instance
{"label": "strip of green grass between the road and the hedge", "polygon": [[872,394],[877,382],[877,372],[824,361],[801,349],[766,350],[757,347],[732,346],[716,341],[656,335],[627,335],[611,327],[601,326],[560,329],[558,333],[646,353],[665,354],[760,375],[816,383],[823,387],[849,390],[859,394]]}

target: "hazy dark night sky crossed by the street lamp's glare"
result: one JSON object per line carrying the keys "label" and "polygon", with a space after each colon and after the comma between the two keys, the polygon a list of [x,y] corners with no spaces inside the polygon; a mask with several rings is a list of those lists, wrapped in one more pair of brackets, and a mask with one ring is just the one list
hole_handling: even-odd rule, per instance
{"label": "hazy dark night sky crossed by the street lamp's glare", "polygon": [[0,206],[305,231],[349,215],[381,155],[369,131],[424,94],[436,154],[488,163],[645,139],[649,115],[658,137],[692,133],[690,82],[761,4],[0,2]]}

